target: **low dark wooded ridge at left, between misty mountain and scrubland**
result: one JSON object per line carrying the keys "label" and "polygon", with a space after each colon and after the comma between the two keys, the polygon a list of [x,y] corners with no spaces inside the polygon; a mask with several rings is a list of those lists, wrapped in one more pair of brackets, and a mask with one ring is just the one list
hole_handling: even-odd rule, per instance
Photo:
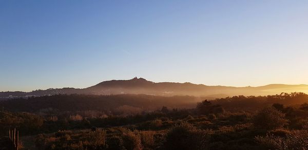
{"label": "low dark wooded ridge at left, between misty mountain and scrubland", "polygon": [[[117,109],[156,110],[162,106],[193,108],[200,98],[191,96],[149,96],[149,95],[54,95],[0,101],[0,108],[8,111],[114,111]],[[122,106],[122,107],[121,107]],[[124,106],[124,107],[123,107]],[[126,106],[126,107],[125,107]]]}

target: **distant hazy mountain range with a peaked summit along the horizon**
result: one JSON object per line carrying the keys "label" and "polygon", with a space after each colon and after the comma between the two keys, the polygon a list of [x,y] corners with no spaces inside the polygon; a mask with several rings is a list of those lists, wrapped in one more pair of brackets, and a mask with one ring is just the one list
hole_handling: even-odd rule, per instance
{"label": "distant hazy mountain range with a peaked summit along the horizon", "polygon": [[118,95],[124,93],[146,94],[157,96],[188,95],[197,97],[222,98],[236,95],[275,95],[281,92],[308,92],[308,85],[285,85],[270,84],[259,87],[230,87],[230,86],[207,86],[192,83],[155,83],[143,78],[133,78],[131,80],[111,80],[104,81],[97,85],[78,89],[78,88],[50,88],[46,90],[35,90],[31,92],[6,91],[0,92],[0,99],[18,97],[38,97],[57,94],[84,94],[84,95]]}

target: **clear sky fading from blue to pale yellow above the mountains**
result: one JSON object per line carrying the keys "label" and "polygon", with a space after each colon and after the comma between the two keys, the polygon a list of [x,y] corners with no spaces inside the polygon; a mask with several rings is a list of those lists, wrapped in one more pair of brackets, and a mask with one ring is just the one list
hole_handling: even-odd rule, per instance
{"label": "clear sky fading from blue to pale yellow above the mountains", "polygon": [[308,1],[0,1],[0,91],[308,84]]}

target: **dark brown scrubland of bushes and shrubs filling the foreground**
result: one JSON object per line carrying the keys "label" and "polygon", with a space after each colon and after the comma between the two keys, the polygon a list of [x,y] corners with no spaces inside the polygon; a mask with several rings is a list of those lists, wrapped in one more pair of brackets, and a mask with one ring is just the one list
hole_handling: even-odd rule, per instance
{"label": "dark brown scrubland of bushes and shrubs filling the foreground", "polygon": [[25,113],[12,105],[0,113],[0,129],[2,136],[9,128],[19,129],[24,149],[307,149],[306,102],[304,93],[282,93],[155,111],[50,108]]}

